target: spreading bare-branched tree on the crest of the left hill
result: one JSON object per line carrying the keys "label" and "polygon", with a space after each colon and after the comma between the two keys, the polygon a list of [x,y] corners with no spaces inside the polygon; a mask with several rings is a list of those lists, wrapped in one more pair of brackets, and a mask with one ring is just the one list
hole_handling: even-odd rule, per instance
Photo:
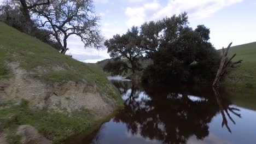
{"label": "spreading bare-branched tree on the crest of the left hill", "polygon": [[57,0],[49,5],[37,5],[32,11],[40,19],[40,26],[48,28],[59,45],[60,52],[68,50],[67,39],[77,35],[85,47],[100,49],[103,37],[92,0]]}

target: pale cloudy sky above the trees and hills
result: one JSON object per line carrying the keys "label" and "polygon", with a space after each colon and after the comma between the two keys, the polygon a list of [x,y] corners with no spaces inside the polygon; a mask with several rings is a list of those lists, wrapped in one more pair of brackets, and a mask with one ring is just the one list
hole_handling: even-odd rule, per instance
{"label": "pale cloudy sky above the trees and hills", "polygon": [[[256,0],[94,0],[94,5],[106,39],[126,33],[132,26],[187,11],[191,27],[210,28],[210,41],[216,49],[231,41],[232,46],[256,41]],[[84,49],[77,37],[68,38],[68,48],[67,54],[82,62],[109,58],[106,48]]]}

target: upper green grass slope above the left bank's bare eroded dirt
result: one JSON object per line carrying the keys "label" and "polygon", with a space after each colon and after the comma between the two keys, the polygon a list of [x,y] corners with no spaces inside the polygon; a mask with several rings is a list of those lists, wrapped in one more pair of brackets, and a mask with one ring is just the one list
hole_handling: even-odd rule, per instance
{"label": "upper green grass slope above the left bank's bare eroded dirt", "polygon": [[0,79],[11,76],[7,63],[19,62],[21,68],[33,73],[34,77],[45,82],[77,81],[84,79],[96,82],[116,100],[116,92],[107,87],[106,74],[95,64],[85,64],[70,56],[62,55],[42,41],[0,23]]}

